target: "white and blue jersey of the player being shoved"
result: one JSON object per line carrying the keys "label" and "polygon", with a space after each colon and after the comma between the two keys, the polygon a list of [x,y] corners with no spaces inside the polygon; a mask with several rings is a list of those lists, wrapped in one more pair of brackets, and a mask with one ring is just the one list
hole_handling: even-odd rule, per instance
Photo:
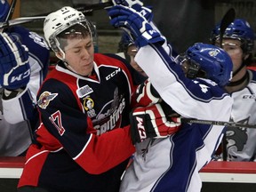
{"label": "white and blue jersey of the player being shoved", "polygon": [[[160,45],[140,48],[135,60],[161,98],[181,116],[229,120],[233,100],[228,93],[211,80],[188,79]],[[166,139],[137,144],[120,191],[199,192],[202,181],[198,172],[212,160],[224,130],[220,125],[186,123]]]}

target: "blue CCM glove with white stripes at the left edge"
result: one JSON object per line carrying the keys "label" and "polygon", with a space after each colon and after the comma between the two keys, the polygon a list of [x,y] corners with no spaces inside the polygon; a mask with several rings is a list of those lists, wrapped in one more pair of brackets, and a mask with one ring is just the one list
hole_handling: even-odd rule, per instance
{"label": "blue CCM glove with white stripes at the left edge", "polygon": [[16,36],[0,33],[0,85],[16,90],[26,87],[29,78],[28,48]]}

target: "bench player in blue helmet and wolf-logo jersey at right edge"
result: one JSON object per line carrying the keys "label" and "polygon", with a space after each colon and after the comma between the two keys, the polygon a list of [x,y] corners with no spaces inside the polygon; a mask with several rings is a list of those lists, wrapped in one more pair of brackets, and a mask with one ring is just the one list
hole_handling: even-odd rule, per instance
{"label": "bench player in blue helmet and wolf-logo jersey at right edge", "polygon": [[[212,44],[220,46],[220,24],[212,30]],[[252,64],[254,32],[244,19],[234,20],[225,30],[223,49],[233,62],[233,78],[225,86],[234,99],[230,121],[239,124],[256,124],[256,72],[247,69]],[[241,127],[228,127],[226,132],[228,161],[254,161],[256,155],[256,130]],[[225,146],[225,143],[224,143]],[[226,149],[226,148],[224,148]]]}

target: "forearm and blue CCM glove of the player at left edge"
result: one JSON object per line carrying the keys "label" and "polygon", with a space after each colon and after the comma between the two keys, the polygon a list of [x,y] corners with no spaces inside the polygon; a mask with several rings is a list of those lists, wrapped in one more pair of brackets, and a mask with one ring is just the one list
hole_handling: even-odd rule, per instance
{"label": "forearm and blue CCM glove of the player at left edge", "polygon": [[33,99],[27,87],[30,79],[28,48],[16,36],[1,33],[0,50],[4,118],[9,123],[16,124],[31,117],[34,111]]}

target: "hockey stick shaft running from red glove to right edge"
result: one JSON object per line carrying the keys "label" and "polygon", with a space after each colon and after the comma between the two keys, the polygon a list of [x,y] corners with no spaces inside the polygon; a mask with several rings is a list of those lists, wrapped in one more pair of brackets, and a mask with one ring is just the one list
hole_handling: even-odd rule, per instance
{"label": "hockey stick shaft running from red glove to right edge", "polygon": [[221,125],[221,126],[229,126],[229,127],[243,127],[243,128],[256,129],[256,124],[237,124],[236,122],[200,120],[200,119],[194,119],[194,118],[181,118],[181,123],[212,124],[212,125]]}

